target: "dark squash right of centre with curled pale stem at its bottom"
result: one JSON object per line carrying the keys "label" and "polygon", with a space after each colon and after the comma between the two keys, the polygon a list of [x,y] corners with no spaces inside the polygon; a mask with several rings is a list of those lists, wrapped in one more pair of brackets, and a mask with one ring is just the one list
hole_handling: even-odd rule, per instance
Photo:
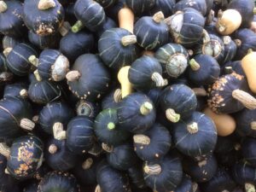
{"label": "dark squash right of centre with curled pale stem at its bottom", "polygon": [[173,123],[189,118],[196,106],[194,91],[184,84],[172,84],[166,87],[160,96],[160,108],[166,113],[166,118]]}

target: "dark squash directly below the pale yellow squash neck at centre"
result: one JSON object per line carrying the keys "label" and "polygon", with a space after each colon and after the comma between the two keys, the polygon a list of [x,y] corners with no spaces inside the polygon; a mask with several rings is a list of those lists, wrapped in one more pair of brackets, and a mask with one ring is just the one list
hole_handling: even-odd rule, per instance
{"label": "dark squash directly below the pale yellow squash neck at centre", "polygon": [[155,108],[148,96],[132,93],[119,102],[117,115],[121,129],[132,133],[143,133],[154,125]]}

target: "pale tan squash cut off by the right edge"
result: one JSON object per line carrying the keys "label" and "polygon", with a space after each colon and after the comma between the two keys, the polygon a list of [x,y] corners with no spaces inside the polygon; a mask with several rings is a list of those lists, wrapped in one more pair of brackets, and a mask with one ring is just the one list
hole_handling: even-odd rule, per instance
{"label": "pale tan squash cut off by the right edge", "polygon": [[246,74],[250,90],[256,93],[256,52],[251,49],[241,60],[241,67]]}

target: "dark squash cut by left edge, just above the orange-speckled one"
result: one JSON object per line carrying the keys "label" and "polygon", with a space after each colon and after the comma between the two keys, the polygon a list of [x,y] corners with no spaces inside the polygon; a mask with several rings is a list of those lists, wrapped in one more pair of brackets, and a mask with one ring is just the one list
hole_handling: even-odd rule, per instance
{"label": "dark squash cut by left edge, just above the orange-speckled one", "polygon": [[20,135],[20,127],[32,131],[32,107],[25,99],[8,96],[0,101],[0,139]]}

